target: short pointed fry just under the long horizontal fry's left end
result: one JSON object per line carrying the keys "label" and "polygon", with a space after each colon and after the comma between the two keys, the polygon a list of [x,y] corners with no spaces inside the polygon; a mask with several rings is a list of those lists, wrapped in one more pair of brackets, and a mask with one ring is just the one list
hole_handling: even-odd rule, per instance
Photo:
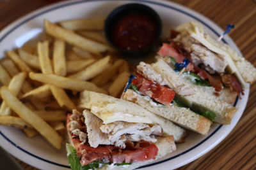
{"label": "short pointed fry just under the long horizontal fry's left end", "polygon": [[45,97],[51,96],[50,85],[46,84],[46,85],[42,85],[36,89],[33,89],[33,90],[27,92],[26,94],[24,94],[22,96],[22,98],[24,99],[29,96],[36,97],[39,99],[44,99]]}

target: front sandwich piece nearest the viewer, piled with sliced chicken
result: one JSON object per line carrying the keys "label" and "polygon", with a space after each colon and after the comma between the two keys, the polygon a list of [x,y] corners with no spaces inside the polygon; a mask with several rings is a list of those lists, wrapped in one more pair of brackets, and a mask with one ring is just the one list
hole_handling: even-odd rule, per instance
{"label": "front sandwich piece nearest the viewer, piled with sliced chicken", "polygon": [[[176,150],[173,136],[163,136],[162,125],[148,118],[148,111],[122,99],[97,95],[83,92],[79,104],[83,113],[73,110],[68,114],[71,144],[67,144],[67,156],[72,169],[135,169]],[[131,114],[129,106],[136,106],[140,115]],[[116,117],[106,119],[112,115]]]}

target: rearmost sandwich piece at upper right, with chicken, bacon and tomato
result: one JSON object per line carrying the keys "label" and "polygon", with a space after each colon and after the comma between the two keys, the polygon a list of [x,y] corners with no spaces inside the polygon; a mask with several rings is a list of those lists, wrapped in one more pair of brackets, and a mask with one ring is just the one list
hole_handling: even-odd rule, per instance
{"label": "rearmost sandwich piece at upper right, with chicken, bacon and tomato", "polygon": [[234,103],[236,96],[243,95],[246,83],[256,80],[255,67],[236,50],[212,38],[198,22],[180,25],[168,41],[158,52],[162,59],[179,74],[179,64],[189,60],[182,77],[220,101]]}

